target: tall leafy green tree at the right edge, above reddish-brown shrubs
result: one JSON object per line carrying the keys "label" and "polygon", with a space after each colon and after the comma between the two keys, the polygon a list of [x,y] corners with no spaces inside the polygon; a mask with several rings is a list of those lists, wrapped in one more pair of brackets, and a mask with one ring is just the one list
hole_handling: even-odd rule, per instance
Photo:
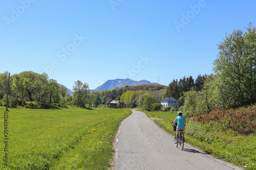
{"label": "tall leafy green tree at the right edge, above reddish-brown shrubs", "polygon": [[222,108],[256,102],[256,30],[250,23],[246,31],[234,30],[218,44],[214,61],[217,102]]}

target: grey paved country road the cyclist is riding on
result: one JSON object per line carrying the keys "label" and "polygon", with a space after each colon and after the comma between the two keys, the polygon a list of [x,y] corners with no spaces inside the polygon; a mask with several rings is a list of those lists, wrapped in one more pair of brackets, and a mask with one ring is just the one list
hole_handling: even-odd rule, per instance
{"label": "grey paved country road the cyclist is riding on", "polygon": [[114,168],[119,169],[242,169],[189,147],[175,147],[174,137],[159,128],[145,113],[133,114],[121,123],[116,135]]}

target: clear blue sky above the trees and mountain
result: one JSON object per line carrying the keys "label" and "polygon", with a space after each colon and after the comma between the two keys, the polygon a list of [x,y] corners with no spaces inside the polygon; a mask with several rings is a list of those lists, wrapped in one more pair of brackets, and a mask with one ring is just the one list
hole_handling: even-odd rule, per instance
{"label": "clear blue sky above the trees and mountain", "polygon": [[70,89],[127,74],[163,85],[210,74],[225,34],[256,25],[256,1],[0,3],[0,72],[47,72]]}

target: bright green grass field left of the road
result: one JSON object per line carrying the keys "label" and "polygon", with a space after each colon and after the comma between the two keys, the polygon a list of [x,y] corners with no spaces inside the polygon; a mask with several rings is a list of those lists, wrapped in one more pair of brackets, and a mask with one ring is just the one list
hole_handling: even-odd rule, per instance
{"label": "bright green grass field left of the road", "polygon": [[[108,169],[126,109],[9,109],[8,166],[0,169]],[[5,108],[0,107],[2,115]],[[4,116],[1,119],[4,129]],[[5,147],[2,130],[1,148]]]}

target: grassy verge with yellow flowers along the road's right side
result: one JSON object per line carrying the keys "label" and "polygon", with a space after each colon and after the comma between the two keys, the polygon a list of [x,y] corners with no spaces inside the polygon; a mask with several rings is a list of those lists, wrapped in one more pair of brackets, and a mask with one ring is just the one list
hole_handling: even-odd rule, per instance
{"label": "grassy verge with yellow flowers along the road's right side", "polygon": [[[165,118],[155,122],[165,131],[175,134],[172,123],[177,112],[144,112],[149,117]],[[256,134],[237,135],[230,129],[222,131],[221,126],[217,122],[203,125],[190,120],[185,130],[185,142],[244,169],[256,169]]]}

